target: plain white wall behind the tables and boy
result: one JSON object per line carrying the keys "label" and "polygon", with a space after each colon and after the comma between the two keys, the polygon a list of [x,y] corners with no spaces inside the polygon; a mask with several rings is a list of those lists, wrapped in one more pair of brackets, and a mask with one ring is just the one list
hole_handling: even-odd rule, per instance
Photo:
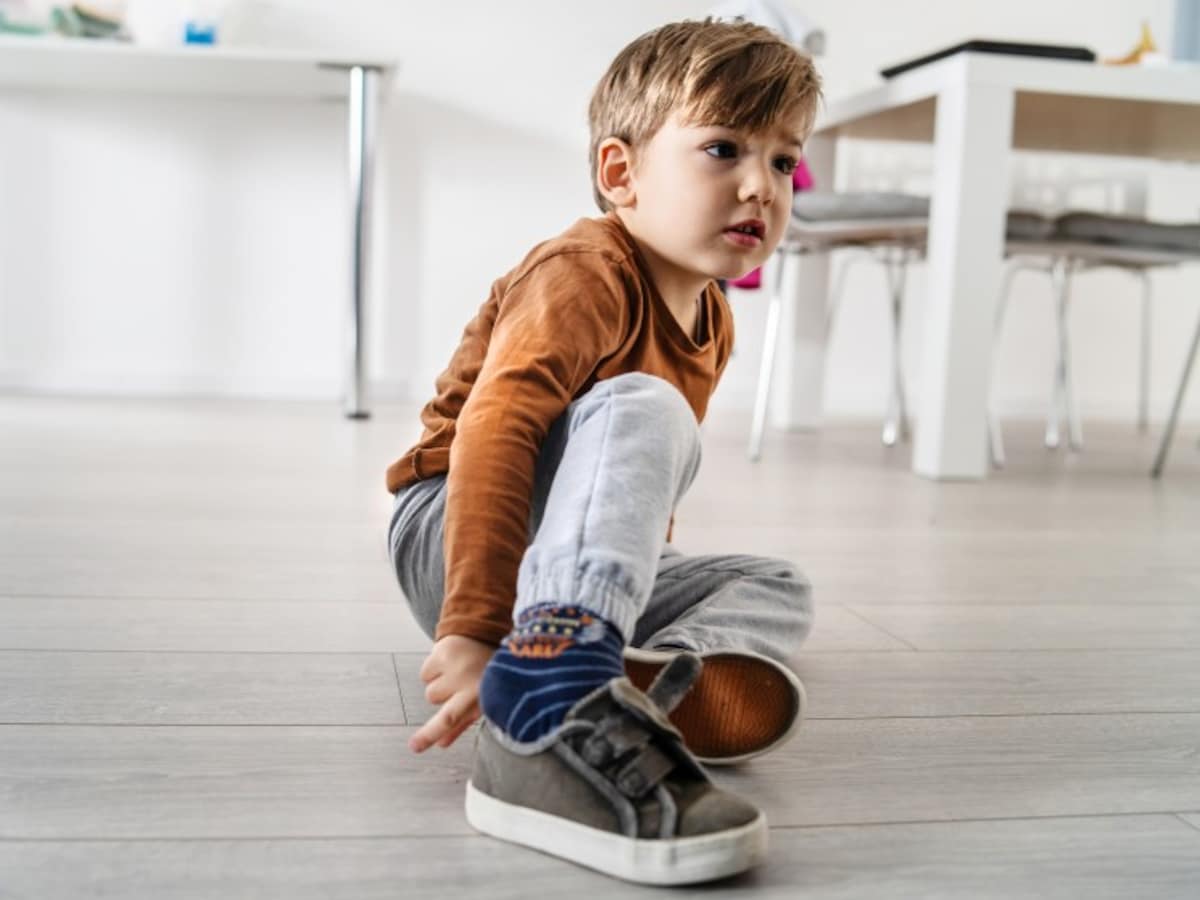
{"label": "plain white wall behind the tables and boy", "polygon": [[[584,112],[611,56],[707,2],[287,0],[280,41],[396,56],[383,116],[373,376],[424,397],[493,278],[538,240],[593,215]],[[827,94],[887,62],[989,36],[1123,53],[1170,0],[797,2],[829,35]],[[0,388],[335,397],[346,272],[342,110],[330,104],[0,92]],[[852,158],[862,155],[851,148]],[[878,150],[870,154],[877,156]],[[898,148],[919,166],[922,149]],[[1084,167],[1128,167],[1086,160]],[[1200,175],[1144,164],[1150,212],[1195,217]],[[844,172],[842,176],[853,173]],[[847,282],[833,338],[833,415],[876,416],[886,378],[882,276]],[[923,272],[911,281],[920,313]],[[1156,276],[1156,418],[1200,313],[1196,269]],[[1091,416],[1129,419],[1136,306],[1120,274],[1086,276],[1074,314],[1076,385]],[[739,347],[715,408],[745,407],[763,301],[733,296]],[[1039,415],[1050,376],[1045,288],[1024,282],[997,398]],[[919,390],[919,329],[906,365]],[[1200,419],[1200,389],[1189,418]]]}

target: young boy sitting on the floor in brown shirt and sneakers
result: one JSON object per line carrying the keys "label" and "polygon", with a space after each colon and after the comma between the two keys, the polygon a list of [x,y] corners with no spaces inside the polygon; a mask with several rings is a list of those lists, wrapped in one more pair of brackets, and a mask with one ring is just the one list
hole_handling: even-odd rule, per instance
{"label": "young boy sitting on the floor in brown shirt and sneakers", "polygon": [[[493,284],[388,470],[440,704],[410,748],[449,746],[482,713],[467,797],[482,832],[655,883],[764,852],[762,814],[691,752],[740,761],[794,730],[784,664],[809,587],[788,563],[666,540],[732,347],[714,280],[782,238],[818,96],[811,61],[756,25],[678,23],[622,50],[589,108],[604,217]],[[642,694],[626,672],[658,679]]]}

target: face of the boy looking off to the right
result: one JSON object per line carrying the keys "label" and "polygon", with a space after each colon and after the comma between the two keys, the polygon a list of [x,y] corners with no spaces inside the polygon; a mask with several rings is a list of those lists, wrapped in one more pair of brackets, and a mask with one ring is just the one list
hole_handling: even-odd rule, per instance
{"label": "face of the boy looking off to the right", "polygon": [[737,278],[767,260],[791,215],[803,125],[784,119],[750,133],[672,116],[632,151],[618,215],[660,270],[656,277],[668,284]]}

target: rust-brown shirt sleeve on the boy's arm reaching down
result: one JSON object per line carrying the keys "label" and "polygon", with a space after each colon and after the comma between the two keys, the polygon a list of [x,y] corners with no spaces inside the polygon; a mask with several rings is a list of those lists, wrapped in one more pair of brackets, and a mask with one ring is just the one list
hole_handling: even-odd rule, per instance
{"label": "rust-brown shirt sleeve on the boy's arm reaching down", "polygon": [[578,252],[539,263],[500,300],[450,445],[437,637],[499,643],[512,629],[538,452],[554,420],[618,349],[626,296],[616,260]]}

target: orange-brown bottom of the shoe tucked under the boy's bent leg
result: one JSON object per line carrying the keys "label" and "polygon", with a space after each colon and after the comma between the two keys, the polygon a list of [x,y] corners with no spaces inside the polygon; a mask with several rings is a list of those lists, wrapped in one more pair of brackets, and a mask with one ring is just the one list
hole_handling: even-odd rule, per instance
{"label": "orange-brown bottom of the shoe tucked under the boy's bent leg", "polygon": [[[672,652],[625,649],[625,673],[646,690]],[[746,652],[700,654],[703,668],[670,714],[684,744],[710,766],[732,764],[782,744],[804,716],[804,686],[779,662]]]}

